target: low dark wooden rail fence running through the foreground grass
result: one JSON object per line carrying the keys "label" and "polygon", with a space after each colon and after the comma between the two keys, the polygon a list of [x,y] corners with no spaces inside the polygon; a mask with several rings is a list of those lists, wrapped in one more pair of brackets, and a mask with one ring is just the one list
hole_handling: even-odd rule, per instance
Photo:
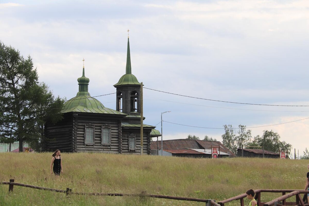
{"label": "low dark wooden rail fence running through the foreground grass", "polygon": [[34,185],[22,184],[22,183],[15,183],[14,181],[15,181],[14,179],[10,179],[10,182],[0,182],[0,184],[8,184],[9,185],[9,192],[13,192],[14,185],[15,185],[15,186],[29,187],[29,188],[33,188],[33,189],[39,189],[39,190],[47,190],[47,191],[51,191],[51,192],[61,192],[61,193],[66,193],[66,195],[151,197],[151,198],[163,198],[163,199],[171,199],[171,200],[205,202],[206,206],[212,206],[212,205],[220,206],[214,200],[209,200],[209,199],[199,199],[199,198],[191,198],[191,197],[175,197],[175,196],[165,196],[165,195],[152,195],[152,194],[147,194],[146,192],[142,192],[140,194],[72,192],[71,188],[66,188],[66,190],[58,190],[58,189],[53,189],[53,188],[39,187],[39,186],[34,186]]}

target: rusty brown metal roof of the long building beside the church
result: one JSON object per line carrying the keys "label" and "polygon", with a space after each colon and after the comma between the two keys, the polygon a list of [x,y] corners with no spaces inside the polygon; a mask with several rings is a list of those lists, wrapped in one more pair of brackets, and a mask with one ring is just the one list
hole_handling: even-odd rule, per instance
{"label": "rusty brown metal roof of the long building beside the church", "polygon": [[[221,142],[194,140],[194,139],[172,139],[163,140],[163,150],[181,150],[181,149],[210,149],[210,146],[220,146],[221,152],[236,157],[229,149],[227,149]],[[150,149],[157,150],[156,141],[150,142]],[[161,143],[159,142],[159,150],[161,150]]]}

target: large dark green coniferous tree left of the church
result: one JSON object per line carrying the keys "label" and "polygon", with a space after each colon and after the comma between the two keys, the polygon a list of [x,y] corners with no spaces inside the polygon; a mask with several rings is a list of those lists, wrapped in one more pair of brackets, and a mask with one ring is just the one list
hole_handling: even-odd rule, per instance
{"label": "large dark green coniferous tree left of the church", "polygon": [[36,143],[43,138],[47,120],[62,118],[63,101],[54,98],[44,83],[38,82],[30,56],[24,59],[18,50],[0,41],[0,142]]}

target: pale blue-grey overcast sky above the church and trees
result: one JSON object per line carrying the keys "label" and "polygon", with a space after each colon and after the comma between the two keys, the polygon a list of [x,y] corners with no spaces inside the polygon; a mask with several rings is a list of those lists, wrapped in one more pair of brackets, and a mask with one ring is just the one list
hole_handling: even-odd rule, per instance
{"label": "pale blue-grey overcast sky above the church and trees", "polygon": [[[83,58],[91,96],[116,92],[129,29],[144,123],[161,130],[171,111],[163,139],[222,141],[223,125],[245,125],[252,136],[277,132],[293,154],[309,149],[309,119],[291,122],[309,117],[307,0],[0,0],[0,19],[0,40],[30,55],[56,96],[76,96]],[[97,99],[116,109],[115,94]]]}

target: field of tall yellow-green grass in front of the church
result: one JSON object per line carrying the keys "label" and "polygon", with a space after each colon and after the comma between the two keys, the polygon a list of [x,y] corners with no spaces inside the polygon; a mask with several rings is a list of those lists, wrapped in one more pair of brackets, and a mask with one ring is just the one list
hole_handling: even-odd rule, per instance
{"label": "field of tall yellow-green grass in front of the church", "polygon": [[[64,173],[50,174],[52,153],[0,153],[0,181],[72,192],[182,196],[224,200],[252,189],[303,189],[306,160],[192,159],[161,156],[62,153]],[[262,193],[262,201],[278,194]],[[294,201],[294,200],[293,200]],[[0,185],[0,205],[205,205],[158,198],[77,196]],[[248,201],[245,200],[245,204]],[[239,205],[239,201],[227,206]]]}

